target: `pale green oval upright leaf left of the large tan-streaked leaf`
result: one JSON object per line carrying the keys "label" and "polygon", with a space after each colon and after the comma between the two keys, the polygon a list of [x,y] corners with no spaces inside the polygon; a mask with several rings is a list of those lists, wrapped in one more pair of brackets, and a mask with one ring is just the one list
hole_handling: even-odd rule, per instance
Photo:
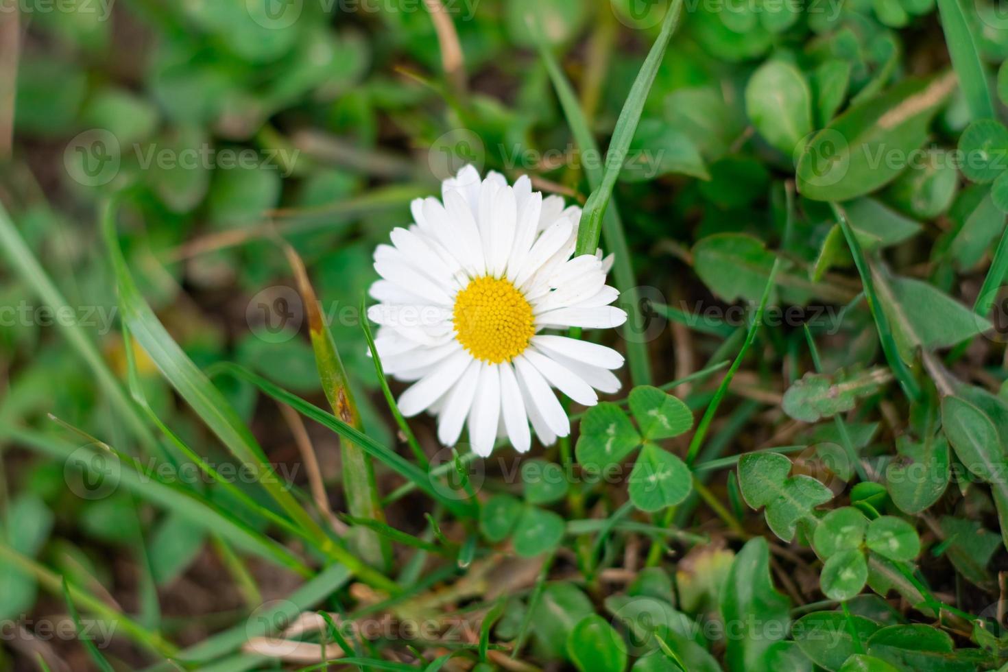
{"label": "pale green oval upright leaf left of the large tan-streaked leaf", "polygon": [[804,76],[782,60],[760,65],[746,85],[746,114],[767,142],[788,156],[812,131],[811,92]]}

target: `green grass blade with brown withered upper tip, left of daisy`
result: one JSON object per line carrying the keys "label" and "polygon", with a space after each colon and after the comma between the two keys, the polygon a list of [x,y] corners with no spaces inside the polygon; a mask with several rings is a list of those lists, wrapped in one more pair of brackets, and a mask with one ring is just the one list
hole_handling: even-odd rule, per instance
{"label": "green grass blade with brown withered upper tip, left of daisy", "polygon": [[[282,245],[308,318],[311,349],[314,352],[316,367],[319,369],[326,398],[337,417],[354,429],[363,430],[364,425],[357,403],[354,401],[350,379],[347,378],[333,332],[319,308],[319,298],[308,279],[304,262],[290,245],[286,243]],[[384,523],[385,512],[382,511],[378,497],[378,485],[375,483],[371,458],[359,446],[345,438],[340,439],[340,454],[343,458],[343,492],[347,498],[350,514],[355,518]],[[389,566],[392,561],[392,545],[387,539],[366,527],[351,530],[350,535],[351,548],[356,550],[362,559],[375,566]]]}

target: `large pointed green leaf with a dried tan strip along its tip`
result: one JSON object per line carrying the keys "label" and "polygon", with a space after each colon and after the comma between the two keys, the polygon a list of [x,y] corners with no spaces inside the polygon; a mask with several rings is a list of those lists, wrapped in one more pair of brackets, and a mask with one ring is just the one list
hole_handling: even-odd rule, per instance
{"label": "large pointed green leaf with a dried tan strip along its tip", "polygon": [[798,192],[812,200],[848,200],[892,181],[907,157],[927,140],[927,129],[956,80],[908,79],[851,107],[816,133],[797,164]]}

